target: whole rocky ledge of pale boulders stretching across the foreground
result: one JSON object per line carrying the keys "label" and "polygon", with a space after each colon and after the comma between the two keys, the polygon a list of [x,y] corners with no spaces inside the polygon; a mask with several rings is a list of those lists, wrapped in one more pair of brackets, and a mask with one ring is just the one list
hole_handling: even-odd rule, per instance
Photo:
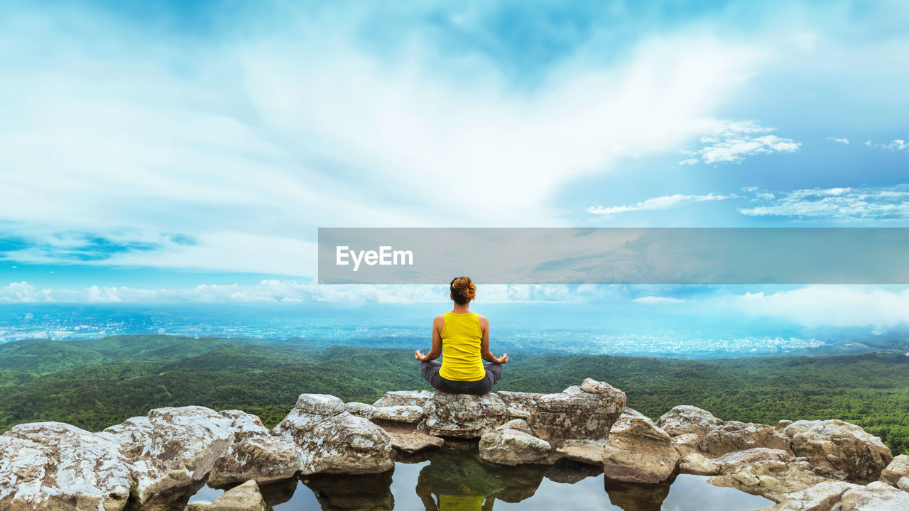
{"label": "whole rocky ledge of pale boulders stretching across the foreground", "polygon": [[[264,510],[258,485],[315,474],[386,472],[397,456],[476,439],[486,462],[588,464],[658,485],[710,476],[776,503],[767,511],[909,510],[909,456],[839,421],[724,421],[675,406],[656,423],[624,392],[586,379],[557,394],[389,392],[372,405],[303,394],[271,430],[203,406],[158,408],[92,433],[57,422],[0,435],[0,509]],[[231,487],[212,503],[195,490]]]}

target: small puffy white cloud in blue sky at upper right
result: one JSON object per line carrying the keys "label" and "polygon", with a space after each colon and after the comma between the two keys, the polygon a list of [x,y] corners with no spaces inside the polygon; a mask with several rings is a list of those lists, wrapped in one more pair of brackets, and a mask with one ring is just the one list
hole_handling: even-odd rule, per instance
{"label": "small puffy white cloud in blue sky at upper right", "polygon": [[679,165],[739,163],[746,156],[768,155],[771,153],[792,153],[800,142],[791,138],[769,135],[775,128],[764,127],[754,121],[717,121],[709,135],[701,137],[704,147],[697,151],[684,151],[695,155],[679,162]]}

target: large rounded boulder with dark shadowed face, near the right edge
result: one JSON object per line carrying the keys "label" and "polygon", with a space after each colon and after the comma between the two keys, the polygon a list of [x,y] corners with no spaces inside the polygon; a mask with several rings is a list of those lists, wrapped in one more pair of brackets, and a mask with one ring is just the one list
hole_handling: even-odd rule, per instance
{"label": "large rounded boulder with dark shadowed face, near the right edge", "polygon": [[805,456],[850,483],[876,480],[893,460],[880,438],[841,420],[795,421],[784,434],[792,438],[796,456]]}

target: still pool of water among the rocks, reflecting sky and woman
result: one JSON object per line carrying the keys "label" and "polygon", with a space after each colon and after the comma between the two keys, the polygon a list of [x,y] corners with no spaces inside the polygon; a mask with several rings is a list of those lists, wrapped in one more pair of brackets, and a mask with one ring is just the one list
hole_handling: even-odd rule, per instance
{"label": "still pool of water among the rocks, reflecting sky and woman", "polygon": [[[409,456],[383,474],[316,475],[261,486],[275,511],[736,511],[773,503],[705,476],[677,476],[662,485],[605,480],[595,466],[499,466],[477,456],[476,443],[448,443]],[[220,492],[218,492],[220,493]],[[193,496],[216,496],[207,486]]]}

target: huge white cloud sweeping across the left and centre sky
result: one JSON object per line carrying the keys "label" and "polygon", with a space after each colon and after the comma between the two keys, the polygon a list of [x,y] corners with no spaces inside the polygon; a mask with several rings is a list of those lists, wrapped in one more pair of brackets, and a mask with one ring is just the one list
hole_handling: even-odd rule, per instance
{"label": "huge white cloud sweeping across the left and centre sky", "polygon": [[375,53],[362,15],[291,8],[202,45],[37,9],[8,10],[0,32],[22,50],[0,83],[0,217],[30,262],[73,262],[61,234],[88,233],[160,244],[96,265],[312,276],[319,225],[559,225],[565,184],[711,133],[768,61],[683,28],[610,65],[580,45],[516,90],[487,55],[441,55],[425,27]]}

